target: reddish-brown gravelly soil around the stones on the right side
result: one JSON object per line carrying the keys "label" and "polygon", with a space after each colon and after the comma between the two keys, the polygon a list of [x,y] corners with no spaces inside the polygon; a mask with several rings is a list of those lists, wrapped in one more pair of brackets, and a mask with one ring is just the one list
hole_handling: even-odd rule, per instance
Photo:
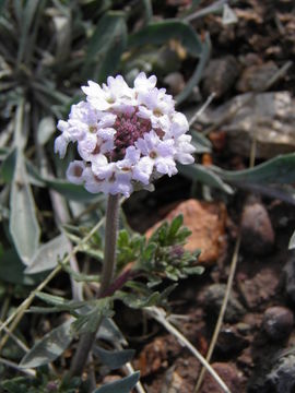
{"label": "reddish-brown gravelly soil around the stones on the right side", "polygon": [[[167,12],[173,15],[187,3],[166,1]],[[202,2],[203,5],[210,3]],[[212,59],[232,56],[238,70],[235,71],[234,82],[228,78],[229,86],[225,83],[226,72],[228,73],[226,67],[225,74],[220,72],[220,80],[214,80],[213,87],[208,79],[210,76],[205,76],[201,94],[204,94],[202,88],[208,94],[221,84],[214,105],[226,103],[239,94],[237,86],[244,85],[244,90],[249,88],[245,87],[248,86],[247,83],[237,83],[245,69],[268,61],[272,61],[279,69],[295,57],[293,1],[245,0],[234,2],[232,8],[238,16],[237,24],[224,26],[221,16],[216,14],[193,22],[199,32],[210,32]],[[233,60],[231,62],[233,63]],[[293,64],[284,78],[272,86],[272,91],[287,90],[294,94],[294,75]],[[214,130],[215,133],[221,131]],[[211,156],[214,164],[229,169],[248,165],[244,157],[228,153],[226,140],[222,146],[216,147]],[[200,156],[199,159],[202,158],[204,157]],[[145,233],[177,203],[189,199],[190,195],[191,184],[181,176],[161,179],[155,192],[134,194],[125,205],[125,211],[131,227]],[[241,311],[237,312],[229,301],[229,317],[225,315],[211,364],[231,392],[295,392],[295,361],[292,353],[295,344],[295,296],[292,296],[292,278],[295,282],[295,277],[292,276],[295,270],[292,266],[295,255],[288,250],[288,241],[295,228],[295,206],[267,196],[246,194],[243,190],[237,190],[231,198],[225,198],[221,192],[213,192],[212,196],[216,203],[222,199],[226,204],[227,247],[223,250],[222,258],[216,258],[213,265],[205,267],[204,274],[181,281],[173,293],[173,314],[184,317],[178,320],[178,329],[203,356],[206,355],[220,310],[220,305],[214,303],[214,290],[217,294],[222,293],[226,284],[237,234],[241,230],[244,241],[241,239],[231,295],[232,299],[238,301]],[[249,196],[255,202],[249,203]],[[256,211],[249,213],[253,214],[252,219],[244,217],[247,213],[245,209],[253,209],[251,203],[256,203],[258,209],[263,210],[262,216],[267,216],[267,228],[263,224],[259,234],[255,227]],[[251,247],[257,236],[261,236],[261,239],[259,238],[258,246],[256,241],[256,246]],[[211,297],[208,295],[209,291]],[[194,391],[201,367],[188,349],[181,347],[173,335],[153,320],[144,321],[130,310],[126,317],[125,309],[119,310],[116,318],[120,326],[123,321],[122,330],[130,347],[137,348],[134,367],[141,370],[141,381],[146,392]],[[130,320],[135,322],[130,325]],[[209,391],[222,390],[209,374],[205,374],[200,392]]]}

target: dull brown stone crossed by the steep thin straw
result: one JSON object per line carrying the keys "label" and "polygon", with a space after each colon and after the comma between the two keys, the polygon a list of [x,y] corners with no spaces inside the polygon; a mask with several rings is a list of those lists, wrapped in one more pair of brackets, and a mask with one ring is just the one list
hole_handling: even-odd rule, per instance
{"label": "dull brown stone crossed by the steep thin straw", "polygon": [[[225,284],[212,284],[203,294],[203,302],[208,312],[212,312],[215,317],[221,311],[222,301],[225,295]],[[232,291],[231,297],[226,307],[224,321],[225,322],[237,322],[241,315],[245,314],[245,309]]]}

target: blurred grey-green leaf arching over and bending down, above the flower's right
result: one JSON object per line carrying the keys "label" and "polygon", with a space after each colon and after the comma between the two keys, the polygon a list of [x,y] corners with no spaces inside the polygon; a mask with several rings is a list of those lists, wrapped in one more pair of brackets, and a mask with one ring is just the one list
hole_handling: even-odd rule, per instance
{"label": "blurred grey-green leaf arching over and bending down, above the flower's right", "polygon": [[178,39],[193,57],[199,57],[202,52],[202,44],[192,26],[176,19],[150,23],[129,36],[128,46],[134,48],[144,45],[163,45],[170,39]]}

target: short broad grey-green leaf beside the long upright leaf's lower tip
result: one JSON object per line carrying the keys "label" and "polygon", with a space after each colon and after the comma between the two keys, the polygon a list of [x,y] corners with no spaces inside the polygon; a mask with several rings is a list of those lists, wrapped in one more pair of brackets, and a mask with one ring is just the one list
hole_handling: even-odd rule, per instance
{"label": "short broad grey-green leaf beside the long upright leaf's lower tip", "polygon": [[62,258],[70,252],[71,246],[64,234],[61,234],[43,245],[30,261],[25,270],[26,274],[35,274],[55,269],[58,264],[58,258]]}

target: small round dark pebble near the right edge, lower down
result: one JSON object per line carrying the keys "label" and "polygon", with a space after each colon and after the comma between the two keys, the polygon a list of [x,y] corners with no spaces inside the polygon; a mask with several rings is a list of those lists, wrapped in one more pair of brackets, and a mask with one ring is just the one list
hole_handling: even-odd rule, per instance
{"label": "small round dark pebble near the right edge, lower down", "polygon": [[287,338],[292,332],[294,317],[285,307],[270,307],[263,315],[263,327],[270,338],[274,341]]}

